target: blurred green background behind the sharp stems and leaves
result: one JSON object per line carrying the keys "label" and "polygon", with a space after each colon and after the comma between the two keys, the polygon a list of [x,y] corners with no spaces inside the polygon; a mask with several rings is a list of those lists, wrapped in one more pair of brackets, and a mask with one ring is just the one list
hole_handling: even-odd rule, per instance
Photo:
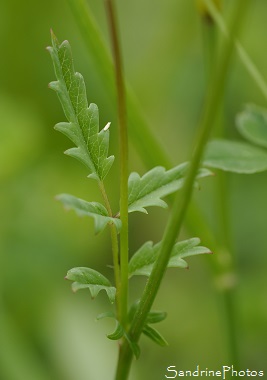
{"label": "blurred green background behind the sharp stems and leaves", "polygon": [[[88,0],[108,43],[104,4]],[[267,79],[264,0],[251,1],[240,39]],[[151,131],[174,164],[187,160],[205,94],[202,28],[195,2],[188,0],[117,1],[127,80]],[[225,1],[227,14],[231,1]],[[64,281],[68,269],[89,266],[107,276],[111,270],[108,231],[95,237],[93,223],[66,213],[54,196],[67,192],[100,200],[96,184],[78,162],[62,153],[71,147],[53,130],[65,117],[45,47],[53,28],[71,43],[75,68],[98,104],[103,127],[112,121],[111,154],[117,160],[107,179],[112,206],[118,208],[116,105],[94,57],[86,50],[68,2],[2,1],[0,5],[0,378],[3,380],[112,379],[116,343],[106,339],[111,321],[95,322],[109,310],[105,294],[91,301],[75,296]],[[234,57],[226,89],[223,123],[238,139],[234,118],[245,103],[266,106],[258,88]],[[158,162],[160,164],[160,162]],[[147,168],[131,145],[130,169]],[[216,178],[202,182],[196,201],[216,233]],[[267,173],[227,176],[228,227],[237,263],[236,309],[241,369],[267,370]],[[168,212],[130,218],[130,252],[146,240],[161,239]],[[197,228],[196,228],[197,230]],[[190,237],[184,229],[183,237]],[[201,238],[201,236],[199,236]],[[216,239],[216,236],[215,236]],[[216,254],[216,252],[215,252]],[[214,255],[215,256],[215,255]],[[159,330],[169,342],[159,348],[141,340],[143,355],[131,379],[163,379],[166,367],[219,369],[231,365],[224,310],[212,274],[214,257],[196,257],[190,270],[169,270],[155,308],[168,318]],[[139,297],[144,279],[131,283]]]}

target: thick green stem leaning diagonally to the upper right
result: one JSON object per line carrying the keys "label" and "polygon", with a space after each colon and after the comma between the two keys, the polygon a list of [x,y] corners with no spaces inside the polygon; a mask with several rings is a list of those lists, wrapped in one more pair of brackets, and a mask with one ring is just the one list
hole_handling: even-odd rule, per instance
{"label": "thick green stem leaning diagonally to the upper right", "polygon": [[[243,7],[243,1],[244,0],[240,0],[239,2],[237,2],[235,8],[235,17],[233,20],[234,22],[232,23],[230,29],[230,36],[235,35],[237,25],[236,20],[242,13],[241,10]],[[173,210],[162,239],[162,247],[159,257],[155,262],[151,276],[147,281],[144,293],[141,297],[139,306],[137,308],[132,325],[130,327],[129,336],[130,339],[134,342],[138,341],[142,333],[147,314],[151,309],[151,306],[158,292],[161,280],[163,278],[170,258],[172,247],[175,243],[177,235],[180,232],[184,216],[191,199],[195,176],[197,174],[197,170],[201,161],[202,153],[208,140],[211,129],[213,127],[213,123],[220,105],[222,89],[224,88],[232,47],[233,39],[230,38],[227,40],[225,47],[222,51],[222,56],[219,60],[219,65],[217,67],[217,70],[215,71],[214,78],[212,80],[208,92],[206,107],[204,109],[203,118],[200,124],[199,136],[196,140],[196,150],[190,164],[189,173],[186,178],[185,185],[182,188],[181,193],[178,193],[175,199]],[[127,379],[130,370],[131,360],[132,353],[130,352],[129,344],[127,341],[124,341],[120,350],[116,380]]]}

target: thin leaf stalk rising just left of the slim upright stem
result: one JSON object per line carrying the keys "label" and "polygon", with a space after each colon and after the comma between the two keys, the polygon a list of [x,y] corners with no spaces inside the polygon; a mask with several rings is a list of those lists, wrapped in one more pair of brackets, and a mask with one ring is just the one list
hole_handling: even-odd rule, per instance
{"label": "thin leaf stalk rising just left of the slim upright stem", "polygon": [[[108,211],[108,215],[110,217],[113,216],[110,202],[106,193],[106,189],[103,181],[99,181],[98,183],[100,192],[104,199],[105,206]],[[121,280],[120,280],[120,265],[119,265],[119,246],[118,246],[118,238],[117,238],[117,230],[114,224],[110,224],[110,237],[111,237],[111,248],[112,248],[112,257],[113,257],[113,266],[114,266],[114,277],[115,277],[115,287],[116,287],[116,308],[117,308],[117,316],[118,319],[121,318]]]}

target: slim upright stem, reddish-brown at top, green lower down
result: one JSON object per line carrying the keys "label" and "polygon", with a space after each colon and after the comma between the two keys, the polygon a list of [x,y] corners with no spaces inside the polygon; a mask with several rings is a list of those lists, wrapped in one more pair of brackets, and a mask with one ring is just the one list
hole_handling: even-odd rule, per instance
{"label": "slim upright stem, reddish-brown at top, green lower down", "polygon": [[113,0],[106,0],[116,73],[119,141],[120,141],[120,275],[121,275],[121,324],[126,327],[128,312],[128,133],[126,96],[123,80],[122,57],[119,43],[118,23]]}

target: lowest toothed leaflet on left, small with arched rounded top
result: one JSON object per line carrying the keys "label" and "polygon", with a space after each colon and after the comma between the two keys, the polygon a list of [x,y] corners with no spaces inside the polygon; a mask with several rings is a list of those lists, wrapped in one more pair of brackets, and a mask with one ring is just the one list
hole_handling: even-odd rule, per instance
{"label": "lowest toothed leaflet on left, small with arched rounded top", "polygon": [[91,268],[79,267],[72,268],[68,271],[66,280],[73,281],[72,290],[88,288],[92,298],[95,298],[100,290],[107,292],[108,298],[111,303],[114,303],[116,296],[116,288],[114,288],[109,280],[101,273]]}

